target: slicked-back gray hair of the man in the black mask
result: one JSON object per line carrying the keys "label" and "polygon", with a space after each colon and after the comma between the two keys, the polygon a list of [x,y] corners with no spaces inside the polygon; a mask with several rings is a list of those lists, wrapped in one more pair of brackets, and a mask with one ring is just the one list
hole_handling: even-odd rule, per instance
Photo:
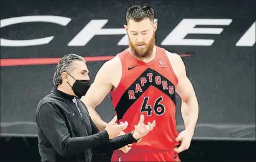
{"label": "slicked-back gray hair of the man in the black mask", "polygon": [[72,66],[74,60],[85,61],[82,56],[73,53],[67,54],[61,58],[53,74],[52,82],[55,88],[62,84],[61,74],[63,72],[71,73],[71,71],[74,70],[75,67]]}

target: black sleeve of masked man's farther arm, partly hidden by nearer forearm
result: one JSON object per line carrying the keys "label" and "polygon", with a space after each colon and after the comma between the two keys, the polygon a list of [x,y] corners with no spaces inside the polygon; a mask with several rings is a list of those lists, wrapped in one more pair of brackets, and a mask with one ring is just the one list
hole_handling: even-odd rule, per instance
{"label": "black sleeve of masked man's farther arm, partly hidden by nearer forearm", "polygon": [[[92,133],[98,133],[99,129],[96,127],[92,119],[90,118]],[[94,152],[99,154],[109,153],[111,151],[117,150],[126,146],[128,144],[134,143],[135,139],[132,137],[132,133],[127,133],[126,135],[121,135],[115,138],[112,138],[106,143],[102,143],[93,148]]]}

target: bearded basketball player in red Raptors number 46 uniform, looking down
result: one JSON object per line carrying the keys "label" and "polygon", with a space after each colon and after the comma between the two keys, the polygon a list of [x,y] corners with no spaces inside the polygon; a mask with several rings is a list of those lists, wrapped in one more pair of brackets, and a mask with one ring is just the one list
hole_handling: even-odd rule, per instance
{"label": "bearded basketball player in red Raptors number 46 uniform, looking down", "polygon": [[[180,56],[155,46],[157,23],[151,7],[130,7],[126,21],[129,48],[102,66],[82,101],[100,130],[107,123],[94,109],[109,92],[118,122],[129,123],[125,132],[134,130],[140,114],[145,123],[155,120],[155,129],[147,137],[127,153],[115,151],[112,161],[180,161],[178,153],[189,148],[199,114],[194,88]],[[176,130],[175,92],[182,99],[185,130],[180,133]]]}

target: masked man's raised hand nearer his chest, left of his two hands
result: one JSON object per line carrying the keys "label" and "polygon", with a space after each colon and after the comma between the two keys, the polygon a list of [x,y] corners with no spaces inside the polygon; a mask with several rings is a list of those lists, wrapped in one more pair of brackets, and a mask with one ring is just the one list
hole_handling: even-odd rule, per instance
{"label": "masked man's raised hand nearer his chest, left of his two hands", "polygon": [[117,137],[120,133],[125,130],[128,126],[128,123],[116,124],[117,116],[115,116],[106,126],[105,130],[109,134],[109,139]]}

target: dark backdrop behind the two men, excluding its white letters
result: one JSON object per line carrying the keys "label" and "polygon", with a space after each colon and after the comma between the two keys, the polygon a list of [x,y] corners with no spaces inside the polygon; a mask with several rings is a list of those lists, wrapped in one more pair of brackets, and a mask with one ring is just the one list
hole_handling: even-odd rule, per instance
{"label": "dark backdrop behind the two men, excluding its white letters", "polygon": [[[126,45],[124,35],[96,35],[84,46],[68,46],[92,19],[108,19],[103,28],[122,28],[125,9],[134,3],[155,9],[159,27],[156,43],[182,57],[199,99],[200,114],[190,149],[184,160],[247,160],[255,151],[255,43],[236,43],[255,22],[255,1],[1,1],[3,19],[19,16],[63,16],[66,26],[29,22],[1,28],[1,38],[27,40],[54,35],[46,45],[1,47],[2,59],[61,58],[67,53],[82,56],[114,56]],[[185,38],[214,39],[210,46],[161,45],[182,19],[232,19],[220,34],[189,34]],[[84,35],[86,37],[86,35]],[[251,35],[254,37],[255,35]],[[93,80],[104,61],[87,63]],[[39,160],[34,120],[37,103],[52,88],[56,65],[1,66],[1,160]],[[97,108],[106,121],[114,115],[110,97]],[[178,130],[184,128],[177,106]],[[14,156],[15,155],[15,156]],[[28,155],[24,158],[24,155]]]}

